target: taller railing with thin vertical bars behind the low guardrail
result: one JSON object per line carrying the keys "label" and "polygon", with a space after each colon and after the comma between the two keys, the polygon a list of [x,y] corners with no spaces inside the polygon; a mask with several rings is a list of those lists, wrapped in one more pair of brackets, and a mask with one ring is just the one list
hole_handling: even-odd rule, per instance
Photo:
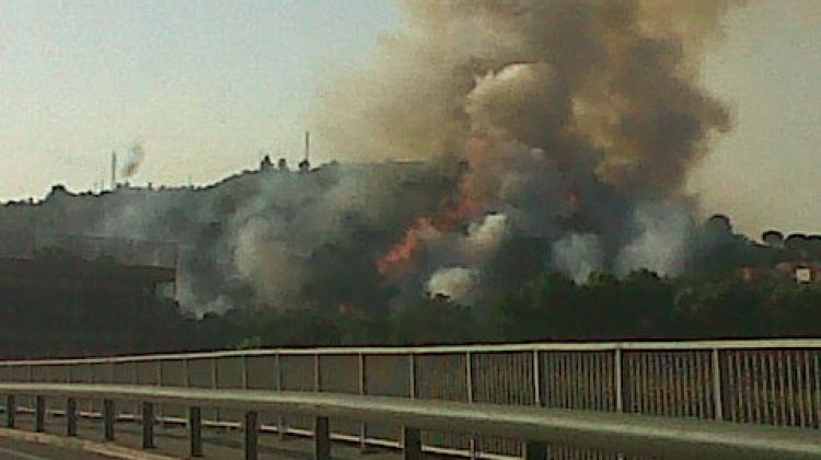
{"label": "taller railing with thin vertical bars behind the low guardrail", "polygon": [[[255,349],[4,361],[0,381],[331,392],[810,429],[821,423],[820,340]],[[185,416],[173,407],[160,411]],[[235,423],[241,414],[208,416]],[[311,421],[290,415],[269,423],[312,429]],[[396,445],[402,437],[395,425],[383,423],[340,424],[334,430],[362,445]],[[472,457],[524,453],[517,439],[464,433],[426,432],[423,441]],[[554,455],[580,456],[569,449]]]}

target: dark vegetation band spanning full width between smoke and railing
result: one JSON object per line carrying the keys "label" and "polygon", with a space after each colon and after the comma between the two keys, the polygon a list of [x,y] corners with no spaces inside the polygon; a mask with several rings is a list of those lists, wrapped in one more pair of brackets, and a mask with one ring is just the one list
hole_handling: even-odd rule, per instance
{"label": "dark vegetation band spanning full width between smoke and railing", "polygon": [[[576,284],[510,245],[516,272],[492,302],[444,297],[393,304],[248,307],[197,319],[152,291],[108,286],[113,267],[49,260],[54,279],[0,289],[0,355],[113,355],[261,346],[421,345],[476,342],[821,337],[821,284],[798,284],[796,267],[821,273],[821,238],[765,233],[755,244],[726,218],[707,221],[678,277],[647,271],[595,273]],[[528,255],[530,254],[530,255]],[[530,258],[529,258],[530,257]],[[59,268],[62,267],[62,268]],[[80,269],[84,281],[66,284]],[[9,275],[11,276],[11,275]],[[500,275],[501,276],[501,275]],[[103,279],[108,279],[104,281]],[[325,286],[331,289],[333,285]],[[69,289],[69,290],[67,290]],[[16,294],[15,294],[16,292]],[[70,292],[68,295],[67,292]],[[18,296],[18,297],[15,297]],[[23,296],[23,297],[20,297]],[[21,299],[25,299],[22,302]]]}

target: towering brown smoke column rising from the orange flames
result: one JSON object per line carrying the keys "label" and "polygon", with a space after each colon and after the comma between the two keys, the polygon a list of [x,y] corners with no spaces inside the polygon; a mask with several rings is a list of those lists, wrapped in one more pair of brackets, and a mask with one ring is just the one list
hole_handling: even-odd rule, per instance
{"label": "towering brown smoke column rising from the orange flames", "polygon": [[420,216],[380,272],[473,301],[465,286],[488,288],[500,251],[467,254],[467,229],[494,215],[497,239],[552,241],[545,263],[580,283],[678,273],[692,235],[682,187],[729,128],[697,74],[730,4],[403,2],[405,28],[326,92],[323,135],[350,154],[461,159],[466,172],[455,203]]}

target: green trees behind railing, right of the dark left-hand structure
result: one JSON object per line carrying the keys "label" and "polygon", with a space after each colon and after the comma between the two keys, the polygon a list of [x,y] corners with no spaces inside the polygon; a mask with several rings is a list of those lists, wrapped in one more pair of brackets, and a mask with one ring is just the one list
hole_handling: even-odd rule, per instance
{"label": "green trees behind railing, right of the dark left-hand structure", "polygon": [[532,244],[511,246],[521,281],[506,283],[486,306],[420,297],[391,308],[232,310],[199,322],[198,346],[821,337],[821,284],[799,285],[790,272],[819,268],[821,237],[767,231],[758,244],[725,216],[698,231],[701,246],[675,278],[599,273],[578,285],[539,268]]}

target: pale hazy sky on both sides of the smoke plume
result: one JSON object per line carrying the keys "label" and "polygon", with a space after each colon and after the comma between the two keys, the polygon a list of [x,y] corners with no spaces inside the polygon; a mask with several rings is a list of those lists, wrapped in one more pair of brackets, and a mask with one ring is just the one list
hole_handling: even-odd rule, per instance
{"label": "pale hazy sky on both sides of the smoke plume", "polygon": [[[215,181],[261,149],[296,162],[315,89],[400,21],[390,0],[0,0],[0,198],[90,188],[135,140],[137,183]],[[821,0],[726,23],[704,82],[736,126],[691,188],[753,234],[821,231]]]}

